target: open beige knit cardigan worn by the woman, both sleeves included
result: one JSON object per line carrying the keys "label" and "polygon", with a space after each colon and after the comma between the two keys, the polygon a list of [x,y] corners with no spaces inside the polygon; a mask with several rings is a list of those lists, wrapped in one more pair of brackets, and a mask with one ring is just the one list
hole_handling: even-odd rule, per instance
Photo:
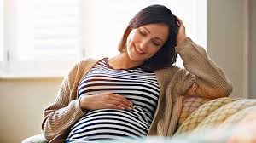
{"label": "open beige knit cardigan worn by the woman, both sleeves included", "polygon": [[[181,95],[215,99],[228,96],[232,91],[232,85],[221,69],[189,37],[177,45],[176,51],[182,57],[185,69],[174,66],[155,71],[160,96],[148,130],[150,136],[170,136],[175,132],[182,107]],[[49,142],[64,142],[73,123],[86,113],[79,106],[78,86],[96,62],[87,59],[75,64],[64,78],[55,102],[44,110],[42,129]]]}

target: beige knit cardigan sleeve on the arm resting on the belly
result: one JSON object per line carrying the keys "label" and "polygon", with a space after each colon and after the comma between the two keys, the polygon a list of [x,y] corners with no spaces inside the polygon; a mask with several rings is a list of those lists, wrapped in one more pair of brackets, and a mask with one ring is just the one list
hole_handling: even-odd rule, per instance
{"label": "beige knit cardigan sleeve on the arm resting on the belly", "polygon": [[79,106],[79,99],[70,101],[78,65],[79,63],[75,64],[64,78],[55,102],[44,109],[42,130],[46,140],[52,140],[55,136],[63,134],[84,115]]}

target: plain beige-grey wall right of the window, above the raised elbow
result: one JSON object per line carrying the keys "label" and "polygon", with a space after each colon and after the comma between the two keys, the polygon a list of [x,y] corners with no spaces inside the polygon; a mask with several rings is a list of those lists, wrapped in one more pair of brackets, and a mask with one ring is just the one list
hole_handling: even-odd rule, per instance
{"label": "plain beige-grey wall right of the window, above the raised elbow", "polygon": [[207,52],[234,85],[232,97],[248,97],[247,0],[207,1]]}

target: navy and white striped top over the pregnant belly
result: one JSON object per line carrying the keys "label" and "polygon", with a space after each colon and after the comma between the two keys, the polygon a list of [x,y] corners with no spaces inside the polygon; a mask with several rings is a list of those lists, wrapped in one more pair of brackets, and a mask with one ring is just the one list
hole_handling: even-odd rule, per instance
{"label": "navy and white striped top over the pregnant belly", "polygon": [[102,92],[123,95],[135,108],[89,111],[73,125],[67,142],[139,140],[148,134],[160,94],[153,71],[139,66],[115,70],[108,58],[99,60],[79,83],[79,96]]}

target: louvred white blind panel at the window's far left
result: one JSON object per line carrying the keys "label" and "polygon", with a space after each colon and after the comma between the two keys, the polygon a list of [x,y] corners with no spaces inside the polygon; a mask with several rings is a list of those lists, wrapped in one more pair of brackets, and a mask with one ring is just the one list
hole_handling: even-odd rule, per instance
{"label": "louvred white blind panel at the window's far left", "polygon": [[18,3],[17,60],[74,60],[78,57],[79,1],[26,2]]}

